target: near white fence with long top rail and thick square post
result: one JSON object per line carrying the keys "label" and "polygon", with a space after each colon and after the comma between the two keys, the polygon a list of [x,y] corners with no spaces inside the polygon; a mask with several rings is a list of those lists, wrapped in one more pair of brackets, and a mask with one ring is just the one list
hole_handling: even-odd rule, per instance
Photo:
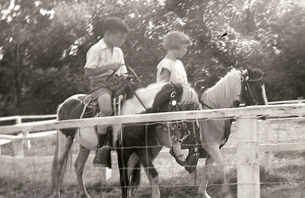
{"label": "near white fence with long top rail and thick square post", "polygon": [[[259,145],[257,116],[303,116],[305,104],[250,106],[244,108],[197,110],[184,112],[152,113],[104,118],[88,118],[63,121],[40,121],[21,123],[13,126],[0,126],[0,134],[22,133],[23,131],[46,131],[69,127],[86,127],[94,125],[145,123],[171,120],[236,119],[237,146],[228,148],[237,156],[237,195],[243,197],[260,197],[259,151],[279,151],[282,146]],[[289,150],[305,150],[305,143],[286,144]]]}

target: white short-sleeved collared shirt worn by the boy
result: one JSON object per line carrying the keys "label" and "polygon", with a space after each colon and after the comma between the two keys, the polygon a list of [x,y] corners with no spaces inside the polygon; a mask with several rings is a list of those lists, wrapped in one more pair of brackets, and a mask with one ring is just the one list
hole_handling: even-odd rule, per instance
{"label": "white short-sleeved collared shirt worn by the boy", "polygon": [[[98,68],[103,67],[110,63],[119,62],[123,64],[116,72],[117,75],[126,74],[127,69],[124,60],[123,51],[118,47],[111,49],[107,46],[104,39],[101,39],[98,43],[90,47],[86,55],[86,64],[84,68]],[[99,78],[102,76],[112,74],[113,70],[107,70],[103,74],[92,76],[89,78]]]}

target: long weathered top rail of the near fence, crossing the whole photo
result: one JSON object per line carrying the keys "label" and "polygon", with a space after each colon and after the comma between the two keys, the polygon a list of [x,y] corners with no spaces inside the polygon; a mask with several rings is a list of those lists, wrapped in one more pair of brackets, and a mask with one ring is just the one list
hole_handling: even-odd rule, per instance
{"label": "long weathered top rail of the near fence, crossing the whole photo", "polygon": [[0,134],[12,134],[20,131],[46,131],[60,128],[88,127],[95,125],[132,124],[163,122],[172,120],[221,119],[228,117],[253,116],[291,116],[304,115],[305,104],[262,105],[242,108],[194,110],[166,113],[150,113],[124,116],[109,116],[101,118],[84,118],[74,120],[47,120],[31,123],[21,123],[11,126],[0,126]]}

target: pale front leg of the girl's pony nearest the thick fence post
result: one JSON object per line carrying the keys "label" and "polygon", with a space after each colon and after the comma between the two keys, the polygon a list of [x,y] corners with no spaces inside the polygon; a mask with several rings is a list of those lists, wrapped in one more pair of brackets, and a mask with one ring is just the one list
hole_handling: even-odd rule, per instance
{"label": "pale front leg of the girl's pony nearest the thick fence post", "polygon": [[202,147],[204,147],[204,149],[207,151],[207,153],[210,155],[210,157],[219,164],[222,175],[223,175],[223,188],[222,188],[222,192],[224,194],[224,197],[226,198],[230,198],[232,197],[232,194],[230,193],[230,187],[227,183],[227,170],[225,167],[225,163],[224,163],[224,159],[223,156],[220,152],[219,149],[219,144],[218,143],[208,143],[205,145],[202,145]]}

